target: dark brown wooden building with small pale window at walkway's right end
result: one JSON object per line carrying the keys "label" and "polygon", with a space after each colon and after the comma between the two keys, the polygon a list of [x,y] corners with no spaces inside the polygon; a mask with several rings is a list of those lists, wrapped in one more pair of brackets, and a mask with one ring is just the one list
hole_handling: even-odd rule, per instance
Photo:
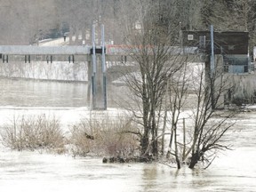
{"label": "dark brown wooden building with small pale window at walkway's right end", "polygon": [[[227,73],[247,73],[250,70],[251,60],[248,54],[248,32],[213,32],[214,54],[222,55],[223,70]],[[210,55],[210,31],[183,31],[182,44],[188,47],[197,47],[197,52]]]}

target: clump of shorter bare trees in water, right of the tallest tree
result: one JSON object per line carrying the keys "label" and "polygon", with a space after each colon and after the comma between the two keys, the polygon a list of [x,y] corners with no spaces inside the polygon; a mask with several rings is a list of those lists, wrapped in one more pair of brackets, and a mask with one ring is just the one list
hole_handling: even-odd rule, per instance
{"label": "clump of shorter bare trees in water, right of the tallest tree", "polygon": [[171,137],[166,156],[174,157],[178,169],[180,161],[187,162],[189,168],[194,168],[199,161],[209,166],[218,150],[229,146],[223,138],[234,124],[230,119],[236,112],[219,109],[224,105],[224,93],[230,84],[223,73],[221,56],[216,57],[215,64],[211,74],[209,62],[186,63],[170,79]]}

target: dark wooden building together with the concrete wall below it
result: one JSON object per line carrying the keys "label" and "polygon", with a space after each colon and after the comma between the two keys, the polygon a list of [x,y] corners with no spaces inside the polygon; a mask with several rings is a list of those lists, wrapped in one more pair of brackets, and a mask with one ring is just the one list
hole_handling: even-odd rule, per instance
{"label": "dark wooden building together with the concrete wall below it", "polygon": [[[197,53],[204,58],[206,70],[210,70],[210,55],[212,53],[210,31],[183,31],[183,46],[197,47]],[[248,32],[216,32],[213,33],[216,73],[225,73],[228,81],[228,92],[220,97],[221,103],[255,103],[256,102],[256,76],[254,62],[251,63],[248,47]],[[256,50],[254,48],[254,50]],[[254,60],[255,53],[254,51]],[[218,60],[218,61],[217,61]],[[207,72],[206,72],[207,73]],[[218,75],[217,75],[218,76]],[[206,80],[207,81],[207,80]],[[218,84],[218,79],[217,79]],[[222,106],[224,107],[224,106]]]}

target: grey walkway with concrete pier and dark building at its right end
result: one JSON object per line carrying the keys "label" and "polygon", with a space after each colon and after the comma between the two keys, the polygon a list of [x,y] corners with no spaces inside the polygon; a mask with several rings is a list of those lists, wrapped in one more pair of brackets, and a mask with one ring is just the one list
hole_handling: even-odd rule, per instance
{"label": "grey walkway with concrete pier and dark building at its right end", "polygon": [[[221,60],[218,68],[229,74],[245,74],[250,71],[248,57],[248,33],[247,32],[214,32],[214,53],[216,60]],[[131,50],[125,51],[125,45],[103,45],[102,47],[80,46],[0,46],[0,59],[3,63],[20,62],[32,63],[43,61],[65,61],[66,63],[85,62],[88,65],[88,99],[92,99],[92,109],[107,108],[106,93],[106,64],[105,61],[129,62],[132,56]],[[131,49],[131,47],[129,48]],[[101,51],[100,51],[101,50]],[[204,61],[210,66],[210,31],[183,31],[181,47],[172,47],[172,54],[188,54],[197,61]],[[189,57],[190,57],[189,56]],[[203,60],[202,60],[203,59]],[[195,61],[195,60],[194,60]],[[105,69],[104,69],[105,68]],[[79,69],[80,70],[80,69]],[[244,75],[246,76],[246,75]],[[244,77],[246,78],[246,77]],[[250,76],[252,78],[252,76]],[[244,81],[247,82],[247,81]]]}

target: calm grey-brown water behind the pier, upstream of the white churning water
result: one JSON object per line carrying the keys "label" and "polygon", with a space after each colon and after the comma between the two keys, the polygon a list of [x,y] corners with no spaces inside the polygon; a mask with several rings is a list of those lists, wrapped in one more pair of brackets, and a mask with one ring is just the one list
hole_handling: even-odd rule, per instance
{"label": "calm grey-brown water behind the pier, upstream of the white churning water", "polygon": [[[108,107],[116,107],[122,88],[108,84]],[[89,107],[87,83],[64,83],[5,79],[0,77],[0,106],[15,107]],[[115,100],[114,100],[115,98]]]}

